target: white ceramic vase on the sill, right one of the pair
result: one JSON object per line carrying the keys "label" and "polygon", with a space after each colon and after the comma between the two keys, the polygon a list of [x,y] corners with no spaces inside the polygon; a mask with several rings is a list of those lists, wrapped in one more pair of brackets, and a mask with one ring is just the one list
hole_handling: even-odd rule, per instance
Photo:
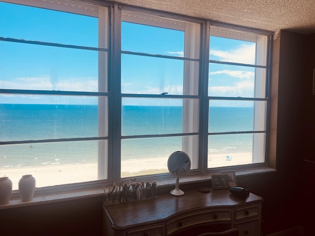
{"label": "white ceramic vase on the sill, right one of the pair", "polygon": [[23,202],[33,199],[35,192],[36,180],[32,175],[24,175],[19,180],[19,191]]}

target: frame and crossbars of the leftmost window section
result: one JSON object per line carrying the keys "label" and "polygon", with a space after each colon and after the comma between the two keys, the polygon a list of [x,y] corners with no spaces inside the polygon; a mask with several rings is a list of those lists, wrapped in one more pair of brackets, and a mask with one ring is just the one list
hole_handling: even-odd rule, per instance
{"label": "frame and crossbars of the leftmost window section", "polygon": [[[64,43],[55,43],[55,42],[45,42],[45,41],[35,41],[35,40],[24,40],[16,38],[5,38],[1,37],[0,41],[4,42],[13,42],[13,43],[23,43],[27,45],[41,45],[41,46],[50,46],[53,48],[70,48],[78,50],[89,50],[98,52],[98,91],[67,91],[67,90],[36,90],[36,89],[0,89],[1,94],[15,94],[15,95],[51,95],[51,96],[91,96],[98,98],[98,101],[101,101],[101,105],[104,105],[107,100],[109,103],[110,92],[107,89],[109,80],[108,80],[108,57],[110,54],[110,44],[109,44],[109,24],[110,24],[110,7],[102,5],[88,5],[80,2],[72,2],[67,0],[59,0],[58,2],[50,1],[36,1],[36,0],[1,0],[1,2],[13,3],[18,5],[25,5],[26,7],[38,7],[48,10],[57,10],[65,13],[75,13],[78,15],[85,15],[90,17],[97,18],[98,22],[98,45],[97,47],[89,46],[80,46],[80,45],[69,45]],[[47,3],[47,4],[46,4]],[[69,5],[68,3],[71,3]],[[79,9],[79,10],[78,10]],[[99,13],[99,14],[98,14]],[[106,33],[108,31],[108,33]],[[107,57],[104,56],[104,53],[107,54]],[[101,66],[100,66],[101,65]],[[104,66],[105,65],[105,66]],[[104,83],[105,82],[105,83]],[[99,91],[99,89],[101,91]],[[100,105],[97,106],[100,109]],[[102,109],[102,115],[98,113],[98,122],[107,122],[108,123],[108,105]],[[106,118],[107,116],[107,118]],[[98,132],[100,132],[98,124]],[[90,141],[95,142],[104,141],[108,145],[109,140],[109,131],[108,124],[102,126],[101,134],[98,134],[97,137],[82,137],[82,138],[57,138],[57,139],[44,139],[44,140],[21,140],[21,141],[0,141],[0,145],[15,145],[15,144],[34,144],[34,143],[52,143],[52,142],[71,142],[71,141]],[[106,134],[107,133],[107,134]],[[102,148],[98,148],[98,165],[97,165],[97,175],[98,176],[107,176],[105,179],[87,181],[80,183],[68,183],[60,184],[56,186],[44,186],[36,188],[36,194],[42,193],[55,193],[63,192],[69,190],[77,189],[89,189],[95,187],[101,187],[104,183],[109,182],[109,173],[108,173],[108,152],[104,153]],[[106,168],[106,169],[105,169]],[[16,193],[17,190],[14,191]]]}

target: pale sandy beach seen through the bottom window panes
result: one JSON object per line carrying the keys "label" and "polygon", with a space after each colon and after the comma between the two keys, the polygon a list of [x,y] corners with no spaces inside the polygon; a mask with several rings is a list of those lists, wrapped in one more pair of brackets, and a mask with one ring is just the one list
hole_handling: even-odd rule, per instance
{"label": "pale sandy beach seen through the bottom window panes", "polygon": [[[168,158],[133,159],[122,162],[122,173],[127,177],[136,173],[165,173]],[[208,159],[209,168],[252,163],[252,153],[235,153],[230,160],[225,155],[212,154]],[[36,187],[61,185],[67,183],[97,180],[97,164],[51,165],[27,168],[1,168],[0,177],[7,176],[12,180],[13,189],[18,189],[19,179],[23,175],[33,175]],[[134,175],[133,175],[134,174]],[[126,176],[125,176],[126,177]]]}

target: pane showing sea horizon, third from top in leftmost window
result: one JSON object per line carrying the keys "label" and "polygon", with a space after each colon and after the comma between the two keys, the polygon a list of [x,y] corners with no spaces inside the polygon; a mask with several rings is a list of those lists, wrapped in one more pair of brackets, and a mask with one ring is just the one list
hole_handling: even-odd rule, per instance
{"label": "pane showing sea horizon, third from top in leftmost window", "polygon": [[0,104],[0,141],[107,135],[107,123],[98,128],[98,119],[107,122],[107,110],[98,111],[97,97],[2,95],[0,98],[4,103],[10,100],[10,104]]}

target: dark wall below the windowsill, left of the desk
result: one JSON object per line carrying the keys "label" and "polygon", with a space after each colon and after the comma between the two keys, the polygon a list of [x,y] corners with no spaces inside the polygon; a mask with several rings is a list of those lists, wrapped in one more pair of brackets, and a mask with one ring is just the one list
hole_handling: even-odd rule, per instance
{"label": "dark wall below the windowsill, left of the desk", "polygon": [[101,236],[102,198],[0,210],[1,236]]}

